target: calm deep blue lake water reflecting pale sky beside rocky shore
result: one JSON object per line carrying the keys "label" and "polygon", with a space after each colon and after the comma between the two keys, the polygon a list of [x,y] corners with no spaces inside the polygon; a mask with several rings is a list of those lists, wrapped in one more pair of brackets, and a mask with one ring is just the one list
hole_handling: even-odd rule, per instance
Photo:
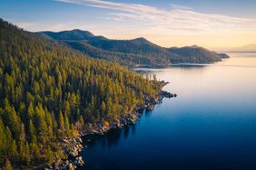
{"label": "calm deep blue lake water reflecting pale sky beside rocky shore", "polygon": [[[169,81],[163,99],[136,125],[89,137],[88,170],[255,170],[256,53],[210,65],[137,69]],[[88,139],[88,137],[86,137]]]}

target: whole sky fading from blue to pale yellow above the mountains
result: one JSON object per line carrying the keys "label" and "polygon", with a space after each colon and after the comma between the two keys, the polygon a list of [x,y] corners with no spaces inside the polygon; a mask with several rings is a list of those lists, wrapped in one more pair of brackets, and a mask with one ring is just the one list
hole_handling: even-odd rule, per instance
{"label": "whole sky fading from blue to pale yellow above the mountains", "polygon": [[256,0],[0,0],[0,17],[32,32],[81,29],[165,47],[256,43]]}

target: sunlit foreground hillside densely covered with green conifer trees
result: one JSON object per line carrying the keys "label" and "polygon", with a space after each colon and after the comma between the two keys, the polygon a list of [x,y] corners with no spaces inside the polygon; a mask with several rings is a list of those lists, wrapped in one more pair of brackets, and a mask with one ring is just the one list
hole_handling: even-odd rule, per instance
{"label": "sunlit foreground hillside densely covered with green conifer trees", "polygon": [[63,158],[59,142],[111,124],[162,89],[157,80],[0,20],[0,165]]}

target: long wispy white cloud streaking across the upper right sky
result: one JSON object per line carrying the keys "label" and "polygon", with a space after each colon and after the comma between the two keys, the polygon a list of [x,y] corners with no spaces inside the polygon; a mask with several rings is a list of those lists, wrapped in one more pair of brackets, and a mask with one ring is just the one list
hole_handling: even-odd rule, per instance
{"label": "long wispy white cloud streaking across the upper right sky", "polygon": [[[256,32],[256,20],[222,14],[203,14],[182,5],[170,5],[170,10],[150,5],[114,3],[103,0],[55,0],[113,10],[107,20],[136,22],[148,28],[172,33],[242,33]],[[146,25],[145,25],[146,24]],[[138,25],[139,26],[139,25]]]}

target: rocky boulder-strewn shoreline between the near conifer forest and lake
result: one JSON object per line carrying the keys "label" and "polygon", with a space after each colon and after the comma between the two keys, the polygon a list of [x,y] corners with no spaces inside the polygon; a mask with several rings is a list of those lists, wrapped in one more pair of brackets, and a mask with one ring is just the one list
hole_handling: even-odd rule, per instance
{"label": "rocky boulder-strewn shoreline between the near conifer forest and lake", "polygon": [[[169,82],[162,81],[162,87],[168,84]],[[73,170],[77,166],[84,165],[82,156],[78,156],[78,153],[84,148],[82,146],[82,138],[87,135],[103,135],[108,130],[112,128],[122,128],[127,125],[135,124],[137,118],[143,113],[143,110],[153,110],[156,104],[162,102],[163,98],[175,98],[176,94],[170,93],[168,91],[161,90],[156,98],[147,98],[143,105],[137,105],[134,109],[131,109],[130,112],[121,117],[119,120],[113,122],[110,125],[104,125],[103,122],[98,122],[94,124],[88,124],[83,132],[73,138],[64,138],[62,143],[62,148],[64,153],[69,157],[67,160],[60,160],[54,162],[52,165],[47,165],[44,169],[59,169],[59,170]]]}

